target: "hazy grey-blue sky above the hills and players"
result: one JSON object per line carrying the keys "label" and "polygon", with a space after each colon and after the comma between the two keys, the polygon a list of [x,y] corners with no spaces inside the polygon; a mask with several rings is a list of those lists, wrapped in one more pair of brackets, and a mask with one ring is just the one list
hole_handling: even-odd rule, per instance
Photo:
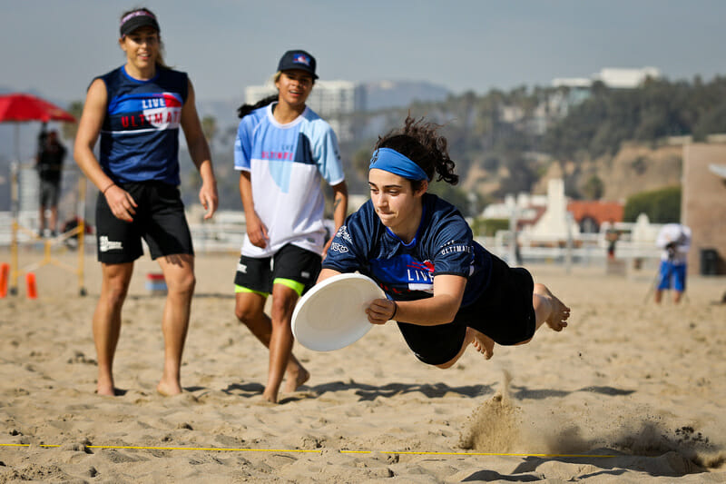
{"label": "hazy grey-blue sky above the hills and players", "polygon": [[721,0],[0,0],[0,87],[83,99],[123,64],[118,18],[159,17],[168,64],[204,100],[242,100],[305,48],[321,79],[421,80],[454,93],[549,85],[603,67],[726,74]]}

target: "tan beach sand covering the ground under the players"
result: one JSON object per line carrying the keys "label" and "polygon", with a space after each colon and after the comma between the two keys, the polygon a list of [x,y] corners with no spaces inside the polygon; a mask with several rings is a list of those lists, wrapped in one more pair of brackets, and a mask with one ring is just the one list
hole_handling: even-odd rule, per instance
{"label": "tan beach sand covering the ground under the players", "polygon": [[490,361],[472,349],[450,370],[417,361],[393,324],[339,351],[296,345],[311,379],[270,405],[267,352],[233,315],[235,263],[197,258],[176,397],[155,391],[163,298],[145,288],[148,259],[115,398],[93,393],[93,256],[86,297],[46,265],[37,300],[24,287],[0,300],[0,482],[726,482],[726,278],[691,277],[686,301],[656,306],[650,269],[534,266],[573,310],[563,332]]}

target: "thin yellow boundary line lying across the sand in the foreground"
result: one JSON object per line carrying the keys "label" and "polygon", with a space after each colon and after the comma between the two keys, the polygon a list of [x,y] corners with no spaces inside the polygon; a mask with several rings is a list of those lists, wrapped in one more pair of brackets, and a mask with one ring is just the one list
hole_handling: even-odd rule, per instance
{"label": "thin yellow boundary line lying across the sand in the foreground", "polygon": [[[37,447],[58,448],[57,444],[1,444],[0,447]],[[86,449],[137,449],[137,450],[213,450],[217,452],[289,452],[289,453],[322,453],[323,450],[309,449],[234,449],[234,448],[218,448],[218,447],[152,447],[152,446],[135,446],[135,445],[86,445]],[[613,455],[600,454],[515,454],[500,452],[425,452],[416,450],[338,450],[341,454],[372,454],[378,452],[381,454],[401,454],[401,455],[421,455],[421,456],[504,456],[504,457],[569,457],[569,458],[613,458]]]}

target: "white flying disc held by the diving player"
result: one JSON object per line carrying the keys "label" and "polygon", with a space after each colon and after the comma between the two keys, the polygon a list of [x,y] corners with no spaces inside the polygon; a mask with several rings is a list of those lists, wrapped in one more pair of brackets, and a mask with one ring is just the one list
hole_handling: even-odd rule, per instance
{"label": "white flying disc held by the diving player", "polygon": [[358,341],[372,327],[366,309],[386,295],[362,274],[338,274],[320,282],[298,301],[292,334],[306,348],[339,350]]}

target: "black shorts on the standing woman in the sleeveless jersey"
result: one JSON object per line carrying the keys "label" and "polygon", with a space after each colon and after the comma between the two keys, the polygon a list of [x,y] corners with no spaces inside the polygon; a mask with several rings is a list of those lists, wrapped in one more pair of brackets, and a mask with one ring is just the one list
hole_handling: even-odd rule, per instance
{"label": "black shorts on the standing woman in the sleeveless jersey", "polygon": [[152,259],[164,255],[192,254],[191,233],[177,187],[161,182],[119,183],[136,202],[133,222],[117,219],[103,194],[96,202],[98,261],[133,262],[143,255],[142,239]]}

